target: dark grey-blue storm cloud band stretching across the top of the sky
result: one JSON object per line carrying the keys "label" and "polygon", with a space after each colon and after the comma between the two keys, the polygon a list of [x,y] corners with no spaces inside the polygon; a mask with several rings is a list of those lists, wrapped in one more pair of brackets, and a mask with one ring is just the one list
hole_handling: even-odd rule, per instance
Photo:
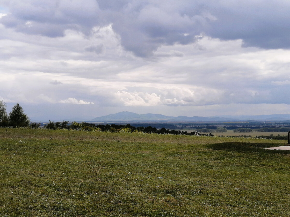
{"label": "dark grey-blue storm cloud band stretching across the top of the sky", "polygon": [[88,35],[94,26],[112,24],[122,46],[137,56],[195,42],[200,34],[242,39],[244,46],[290,47],[289,1],[26,0],[7,7],[1,23],[27,34],[57,37],[73,29]]}

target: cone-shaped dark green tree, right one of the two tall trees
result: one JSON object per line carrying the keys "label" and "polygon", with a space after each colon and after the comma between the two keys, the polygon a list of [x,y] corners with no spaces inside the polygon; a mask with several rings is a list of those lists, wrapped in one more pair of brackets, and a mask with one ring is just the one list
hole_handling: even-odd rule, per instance
{"label": "cone-shaped dark green tree, right one of the two tall trees", "polygon": [[30,123],[30,119],[26,114],[24,114],[23,108],[18,102],[13,106],[12,111],[9,113],[8,121],[9,125],[13,127],[27,127]]}

